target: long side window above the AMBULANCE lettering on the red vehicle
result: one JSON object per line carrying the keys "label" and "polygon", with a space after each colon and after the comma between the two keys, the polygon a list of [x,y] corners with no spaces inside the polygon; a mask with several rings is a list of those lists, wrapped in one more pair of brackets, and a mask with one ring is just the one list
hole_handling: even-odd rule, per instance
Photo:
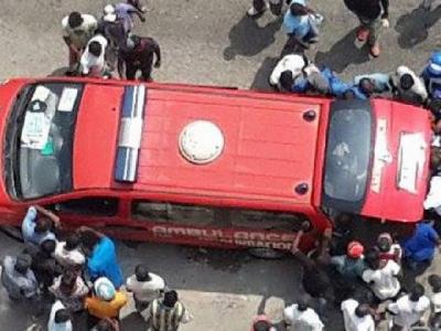
{"label": "long side window above the AMBULANCE lettering on the red vehicle", "polygon": [[309,221],[303,214],[222,209],[143,200],[132,202],[131,215],[135,220],[155,223],[187,226],[233,226],[261,231],[299,231],[302,222]]}

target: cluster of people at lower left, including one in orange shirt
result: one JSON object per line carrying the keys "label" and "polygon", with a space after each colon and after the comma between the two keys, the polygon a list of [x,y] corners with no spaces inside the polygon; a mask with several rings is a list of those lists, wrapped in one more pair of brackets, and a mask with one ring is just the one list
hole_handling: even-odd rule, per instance
{"label": "cluster of people at lower left, including one in orange shirt", "polygon": [[[35,205],[22,223],[24,247],[2,261],[1,284],[13,302],[29,305],[34,316],[49,313],[47,329],[119,331],[121,309],[133,298],[146,320],[142,330],[178,330],[192,316],[178,292],[146,265],[123,278],[116,247],[108,236],[83,226],[63,231],[60,218]],[[131,292],[132,296],[128,293]]]}

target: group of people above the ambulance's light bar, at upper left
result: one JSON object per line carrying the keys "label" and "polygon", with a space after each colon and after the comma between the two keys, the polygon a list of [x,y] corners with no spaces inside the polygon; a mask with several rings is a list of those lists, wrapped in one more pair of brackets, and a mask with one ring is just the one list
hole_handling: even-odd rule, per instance
{"label": "group of people above the ambulance's light bar, at upper left", "polygon": [[128,0],[106,6],[99,19],[76,11],[65,17],[66,75],[135,79],[140,72],[141,81],[151,81],[153,65],[161,66],[161,49],[154,39],[132,33],[136,18],[146,21],[144,11],[139,0]]}

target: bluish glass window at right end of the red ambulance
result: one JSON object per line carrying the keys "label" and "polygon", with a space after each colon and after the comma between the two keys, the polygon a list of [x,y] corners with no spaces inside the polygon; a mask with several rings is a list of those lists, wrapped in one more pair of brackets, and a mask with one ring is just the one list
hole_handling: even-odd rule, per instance
{"label": "bluish glass window at right end of the red ambulance", "polygon": [[372,152],[369,102],[335,102],[327,128],[323,203],[357,212],[366,193]]}

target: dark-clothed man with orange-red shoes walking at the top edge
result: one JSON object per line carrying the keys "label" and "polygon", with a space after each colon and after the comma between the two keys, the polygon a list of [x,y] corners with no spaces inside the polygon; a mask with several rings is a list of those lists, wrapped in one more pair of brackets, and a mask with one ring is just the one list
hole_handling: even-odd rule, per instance
{"label": "dark-clothed man with orange-red shoes walking at the top edge", "polygon": [[380,25],[389,28],[389,0],[344,0],[348,10],[358,17],[361,26],[357,39],[367,41],[370,54],[377,57],[380,53],[378,36]]}

